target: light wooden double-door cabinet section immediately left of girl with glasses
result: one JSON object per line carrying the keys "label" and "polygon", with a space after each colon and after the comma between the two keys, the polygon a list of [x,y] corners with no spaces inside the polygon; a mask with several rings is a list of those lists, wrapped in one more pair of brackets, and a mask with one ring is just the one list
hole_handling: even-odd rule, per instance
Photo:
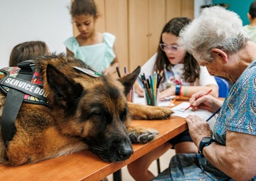
{"label": "light wooden double-door cabinet section immediately left of girl with glasses", "polygon": [[157,50],[165,23],[165,0],[129,0],[129,69],[143,65]]}

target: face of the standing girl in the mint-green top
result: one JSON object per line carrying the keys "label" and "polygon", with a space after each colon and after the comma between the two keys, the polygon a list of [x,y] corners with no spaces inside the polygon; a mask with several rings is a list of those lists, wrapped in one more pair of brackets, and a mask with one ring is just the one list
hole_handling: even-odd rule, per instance
{"label": "face of the standing girl in the mint-green top", "polygon": [[96,18],[93,15],[76,15],[73,20],[82,37],[88,38],[94,33]]}

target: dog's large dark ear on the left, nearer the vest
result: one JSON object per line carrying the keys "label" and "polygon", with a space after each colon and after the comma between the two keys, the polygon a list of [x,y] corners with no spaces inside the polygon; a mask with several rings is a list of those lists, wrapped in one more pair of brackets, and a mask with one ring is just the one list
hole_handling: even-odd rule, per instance
{"label": "dog's large dark ear on the left, nearer the vest", "polygon": [[76,99],[81,96],[83,87],[68,79],[65,74],[51,64],[47,65],[46,75],[47,83],[52,89],[56,102],[67,109],[72,108]]}

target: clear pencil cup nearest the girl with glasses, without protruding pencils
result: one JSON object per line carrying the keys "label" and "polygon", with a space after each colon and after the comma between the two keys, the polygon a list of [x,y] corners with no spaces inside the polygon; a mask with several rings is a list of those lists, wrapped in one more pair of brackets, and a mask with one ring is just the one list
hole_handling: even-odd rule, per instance
{"label": "clear pencil cup nearest the girl with glasses, without protruding pencils", "polygon": [[158,89],[143,89],[145,103],[148,106],[158,106]]}

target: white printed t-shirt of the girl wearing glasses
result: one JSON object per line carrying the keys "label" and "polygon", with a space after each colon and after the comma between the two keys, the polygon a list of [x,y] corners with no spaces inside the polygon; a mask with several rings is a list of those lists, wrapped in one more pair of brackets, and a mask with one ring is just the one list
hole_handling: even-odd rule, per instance
{"label": "white printed t-shirt of the girl wearing glasses", "polygon": [[[157,53],[155,53],[142,67],[141,67],[141,73],[144,73],[145,76],[148,78],[150,75],[153,75],[154,73],[154,64],[156,63]],[[211,76],[206,69],[206,67],[200,66],[200,75],[199,79],[196,79],[194,83],[186,82],[184,79],[182,79],[183,74],[183,68],[184,64],[176,64],[172,67],[172,72],[169,72],[164,68],[164,75],[165,80],[164,82],[161,82],[159,85],[159,91],[163,91],[167,89],[170,85],[175,85],[174,81],[179,80],[182,82],[182,85],[190,85],[190,86],[206,86],[209,84],[214,84],[216,86],[217,82],[214,78],[214,76]]]}

